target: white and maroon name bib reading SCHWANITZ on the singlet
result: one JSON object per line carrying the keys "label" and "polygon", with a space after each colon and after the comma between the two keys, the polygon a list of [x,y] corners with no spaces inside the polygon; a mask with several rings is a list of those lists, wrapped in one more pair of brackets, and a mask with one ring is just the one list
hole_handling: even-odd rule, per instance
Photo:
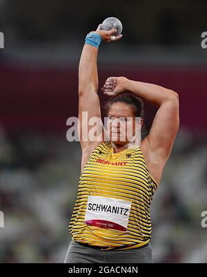
{"label": "white and maroon name bib reading SCHWANITZ on the singlet", "polygon": [[88,196],[85,223],[106,229],[126,231],[131,201],[103,196]]}

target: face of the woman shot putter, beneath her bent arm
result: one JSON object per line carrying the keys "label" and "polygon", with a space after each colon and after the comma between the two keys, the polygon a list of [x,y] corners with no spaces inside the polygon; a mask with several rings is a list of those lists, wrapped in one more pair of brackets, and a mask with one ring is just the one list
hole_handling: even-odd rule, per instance
{"label": "face of the woman shot putter, beneath her bent arm", "polygon": [[108,111],[107,132],[110,141],[124,145],[139,136],[141,139],[142,119],[135,117],[133,107],[126,103],[116,102]]}

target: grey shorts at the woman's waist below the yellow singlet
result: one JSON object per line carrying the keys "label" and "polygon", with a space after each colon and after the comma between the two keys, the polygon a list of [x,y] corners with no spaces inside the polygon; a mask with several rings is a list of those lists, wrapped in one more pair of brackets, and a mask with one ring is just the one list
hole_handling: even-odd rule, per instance
{"label": "grey shorts at the woman's waist below the yellow singlet", "polygon": [[103,251],[71,241],[64,263],[152,263],[152,247]]}

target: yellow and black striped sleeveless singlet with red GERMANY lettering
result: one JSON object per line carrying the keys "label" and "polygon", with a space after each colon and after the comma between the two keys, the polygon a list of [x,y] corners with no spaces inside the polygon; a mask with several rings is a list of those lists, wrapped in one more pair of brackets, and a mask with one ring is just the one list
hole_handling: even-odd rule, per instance
{"label": "yellow and black striped sleeveless singlet with red GERMANY lettering", "polygon": [[102,250],[135,249],[151,236],[150,203],[157,182],[139,145],[119,153],[110,142],[95,148],[79,178],[69,224],[72,240]]}

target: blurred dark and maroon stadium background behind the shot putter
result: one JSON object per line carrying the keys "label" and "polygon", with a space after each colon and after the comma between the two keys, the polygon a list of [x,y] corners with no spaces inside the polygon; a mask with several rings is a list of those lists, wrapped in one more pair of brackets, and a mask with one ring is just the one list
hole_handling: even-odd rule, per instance
{"label": "blurred dark and maroon stadium background behind the shot putter", "polygon": [[[206,1],[1,0],[1,263],[62,263],[81,149],[66,140],[77,116],[84,38],[106,17],[124,37],[99,50],[99,84],[127,76],[179,93],[180,129],[152,202],[155,263],[206,263]],[[101,103],[106,97],[99,92]],[[156,109],[145,103],[148,130]]]}

